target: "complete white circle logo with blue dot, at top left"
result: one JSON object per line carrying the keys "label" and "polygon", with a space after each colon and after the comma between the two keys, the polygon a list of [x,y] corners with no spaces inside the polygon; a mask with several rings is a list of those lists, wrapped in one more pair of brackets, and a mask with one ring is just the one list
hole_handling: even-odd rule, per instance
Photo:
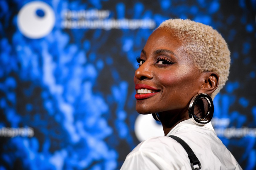
{"label": "complete white circle logo with blue dot, at top left", "polygon": [[52,8],[45,2],[32,1],[19,11],[17,24],[24,36],[39,39],[52,31],[55,15]]}

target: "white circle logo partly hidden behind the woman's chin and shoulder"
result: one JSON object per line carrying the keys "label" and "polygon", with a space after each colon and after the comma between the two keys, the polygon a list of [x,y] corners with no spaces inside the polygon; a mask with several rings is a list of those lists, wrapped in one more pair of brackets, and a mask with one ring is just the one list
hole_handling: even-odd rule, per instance
{"label": "white circle logo partly hidden behind the woman's chin and shoulder", "polygon": [[162,125],[157,124],[152,114],[138,115],[134,125],[135,135],[140,142],[154,136],[164,136]]}

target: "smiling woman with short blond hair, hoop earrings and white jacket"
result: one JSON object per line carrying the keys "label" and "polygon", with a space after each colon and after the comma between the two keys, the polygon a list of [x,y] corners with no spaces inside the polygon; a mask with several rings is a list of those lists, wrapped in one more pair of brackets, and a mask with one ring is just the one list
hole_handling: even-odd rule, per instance
{"label": "smiling woman with short blond hair, hoop earrings and white jacket", "polygon": [[161,121],[165,136],[140,143],[121,169],[241,169],[209,122],[211,98],[229,74],[230,52],[222,36],[191,20],[166,20],[137,60],[136,110]]}

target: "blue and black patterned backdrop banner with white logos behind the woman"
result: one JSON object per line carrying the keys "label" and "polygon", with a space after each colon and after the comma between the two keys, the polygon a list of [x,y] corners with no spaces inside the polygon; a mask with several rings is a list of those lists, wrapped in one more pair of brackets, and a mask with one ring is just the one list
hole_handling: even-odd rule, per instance
{"label": "blue and black patterned backdrop banner with white logos behind the woman", "polygon": [[169,18],[211,25],[231,51],[212,124],[256,168],[255,0],[1,0],[0,169],[119,169],[162,136],[135,110],[136,57]]}

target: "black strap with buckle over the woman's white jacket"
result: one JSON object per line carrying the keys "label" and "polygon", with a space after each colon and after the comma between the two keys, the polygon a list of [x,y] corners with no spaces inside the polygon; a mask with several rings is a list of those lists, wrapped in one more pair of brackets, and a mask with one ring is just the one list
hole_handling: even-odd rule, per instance
{"label": "black strap with buckle over the woman's white jacket", "polygon": [[[182,147],[186,150],[186,152],[189,155],[191,168],[193,170],[201,169],[201,164],[200,164],[199,160],[197,159],[196,155],[194,154],[193,150],[189,147],[189,145],[186,142],[184,142],[184,140],[182,140],[181,138],[179,138],[177,136],[170,135],[169,137],[177,140],[177,142],[179,142],[182,145]],[[199,167],[194,168],[195,165],[198,165]]]}

